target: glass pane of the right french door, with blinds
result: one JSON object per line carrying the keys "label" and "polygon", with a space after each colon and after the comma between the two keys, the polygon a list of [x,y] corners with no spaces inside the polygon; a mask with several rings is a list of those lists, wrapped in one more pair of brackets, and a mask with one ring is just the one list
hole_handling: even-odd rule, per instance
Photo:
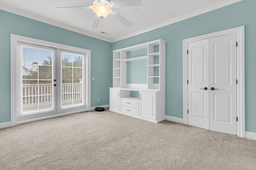
{"label": "glass pane of the right french door, with blinds", "polygon": [[62,106],[83,103],[83,56],[62,52]]}

